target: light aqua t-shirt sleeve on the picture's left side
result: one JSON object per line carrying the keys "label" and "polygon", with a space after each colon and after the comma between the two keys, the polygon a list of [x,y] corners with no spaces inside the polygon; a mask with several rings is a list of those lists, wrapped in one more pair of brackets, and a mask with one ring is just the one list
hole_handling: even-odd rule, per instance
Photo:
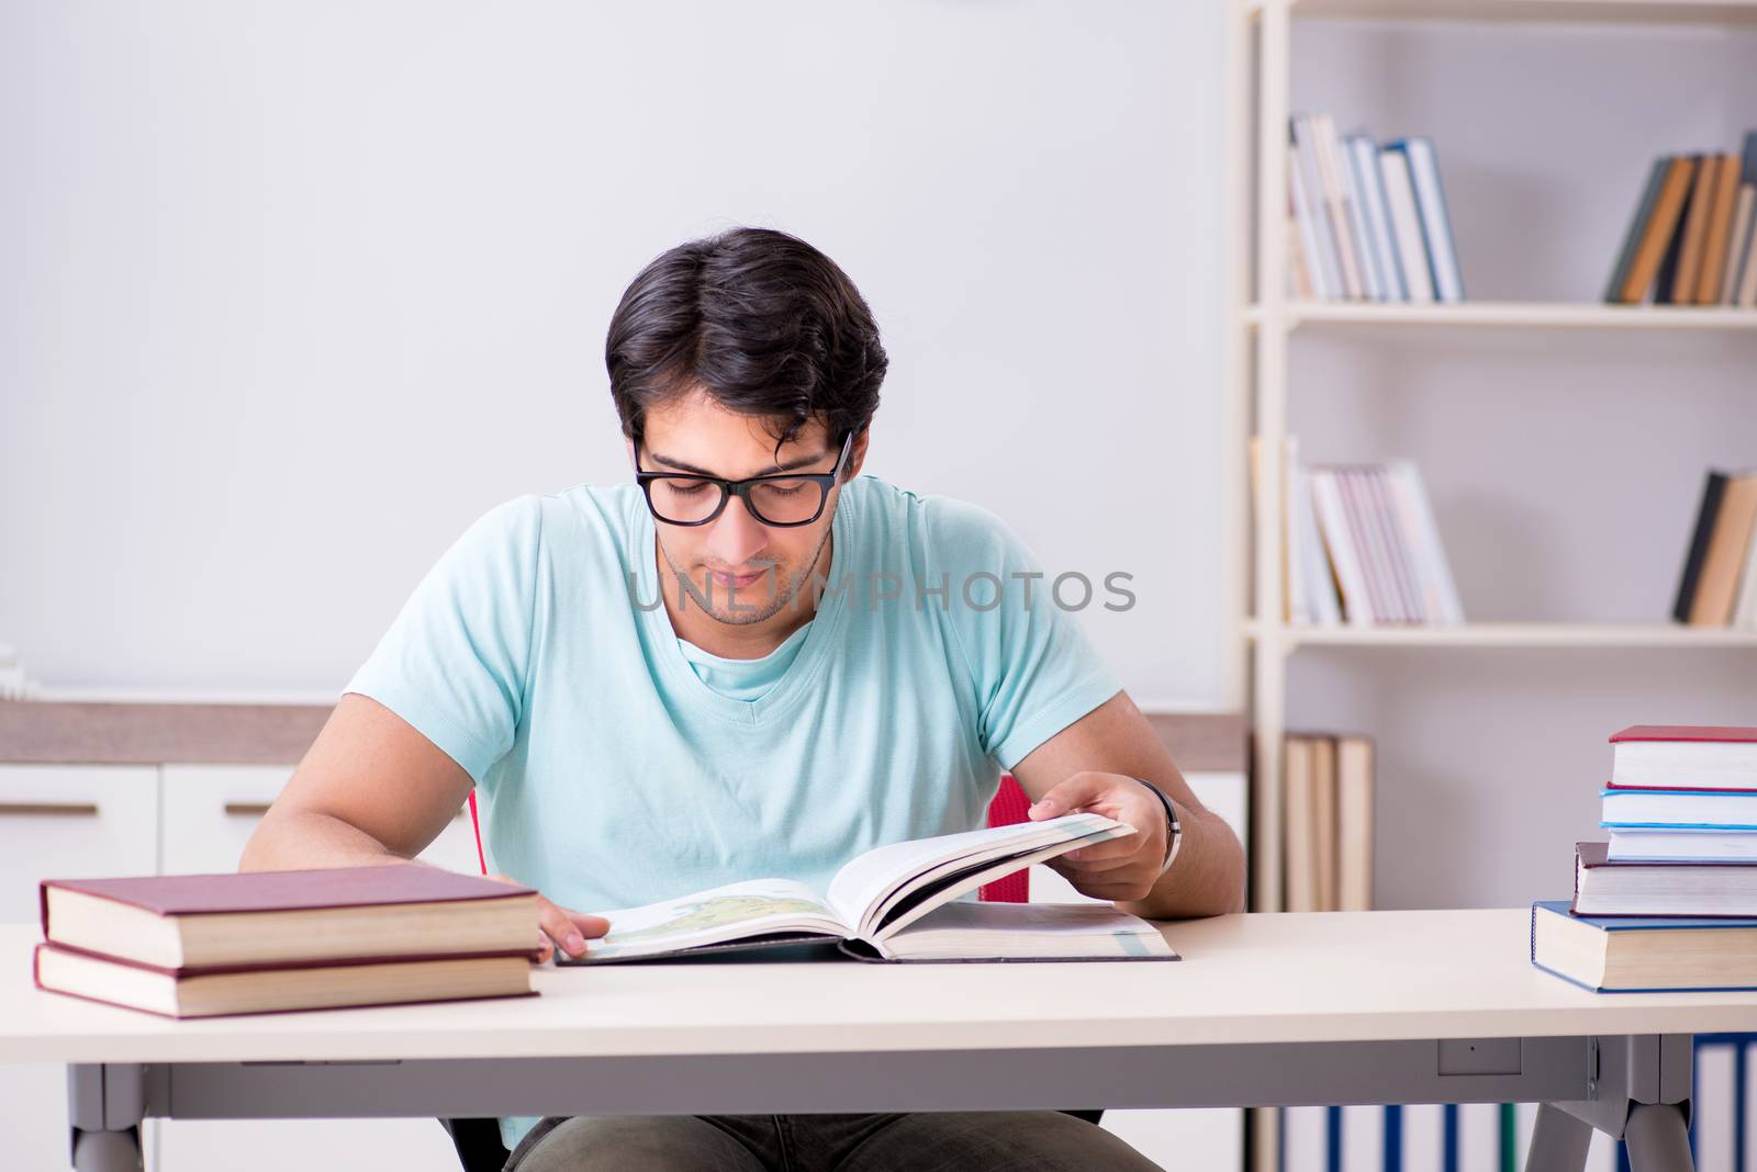
{"label": "light aqua t-shirt sleeve on the picture's left side", "polygon": [[541,540],[536,497],[483,514],[343,688],[406,719],[478,784],[511,749],[524,714]]}

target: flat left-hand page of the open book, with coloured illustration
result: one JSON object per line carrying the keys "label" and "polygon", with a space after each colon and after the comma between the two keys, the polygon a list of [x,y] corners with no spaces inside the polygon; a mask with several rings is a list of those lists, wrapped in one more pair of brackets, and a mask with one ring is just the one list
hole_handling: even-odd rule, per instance
{"label": "flat left-hand page of the open book, with coloured illustration", "polygon": [[590,942],[587,960],[659,956],[775,933],[850,935],[808,886],[791,879],[750,879],[603,916],[610,933]]}

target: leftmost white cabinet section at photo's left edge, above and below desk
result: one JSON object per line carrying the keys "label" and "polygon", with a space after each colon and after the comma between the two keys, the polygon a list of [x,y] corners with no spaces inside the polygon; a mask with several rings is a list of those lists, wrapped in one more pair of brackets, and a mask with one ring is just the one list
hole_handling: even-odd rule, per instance
{"label": "leftmost white cabinet section at photo's left edge, above and below desk", "polygon": [[[37,923],[42,879],[151,874],[158,770],[151,765],[0,765],[0,921]],[[65,1168],[67,1074],[0,1063],[9,1168]]]}

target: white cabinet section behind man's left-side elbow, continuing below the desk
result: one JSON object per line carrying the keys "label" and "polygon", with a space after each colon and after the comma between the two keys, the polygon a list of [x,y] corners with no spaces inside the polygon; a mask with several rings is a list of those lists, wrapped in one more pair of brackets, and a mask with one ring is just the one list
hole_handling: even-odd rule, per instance
{"label": "white cabinet section behind man's left-side elbow, continuing below the desk", "polygon": [[[165,765],[163,870],[237,870],[262,812],[292,774],[286,765]],[[469,811],[460,809],[420,858],[480,872]],[[434,1119],[158,1119],[149,1130],[148,1163],[158,1172],[459,1167]]]}

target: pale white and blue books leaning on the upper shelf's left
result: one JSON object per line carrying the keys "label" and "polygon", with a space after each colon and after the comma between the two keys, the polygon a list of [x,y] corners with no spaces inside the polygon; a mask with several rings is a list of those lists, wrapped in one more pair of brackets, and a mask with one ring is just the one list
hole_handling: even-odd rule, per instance
{"label": "pale white and blue books leaning on the upper shelf's left", "polygon": [[1297,114],[1288,146],[1291,291],[1367,302],[1462,302],[1451,216],[1428,139],[1337,137]]}

